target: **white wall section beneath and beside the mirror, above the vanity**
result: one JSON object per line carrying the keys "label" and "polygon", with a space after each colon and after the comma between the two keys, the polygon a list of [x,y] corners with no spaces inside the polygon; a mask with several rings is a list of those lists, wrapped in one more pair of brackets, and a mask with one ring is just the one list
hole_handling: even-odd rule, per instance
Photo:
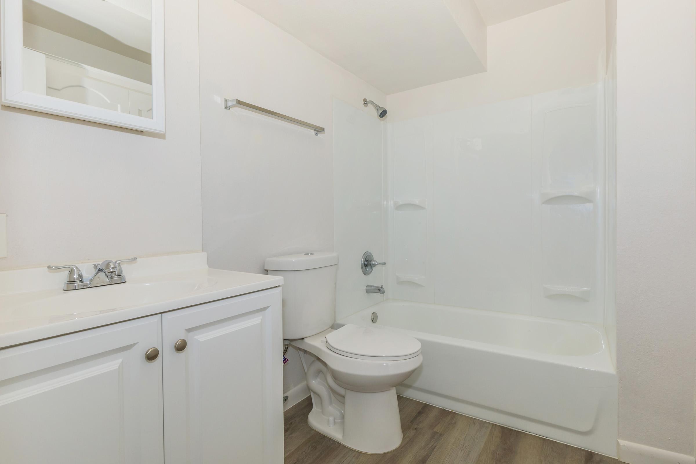
{"label": "white wall section beneath and beside the mirror, above the vanity", "polygon": [[0,269],[200,250],[197,3],[165,11],[165,136],[1,107]]}

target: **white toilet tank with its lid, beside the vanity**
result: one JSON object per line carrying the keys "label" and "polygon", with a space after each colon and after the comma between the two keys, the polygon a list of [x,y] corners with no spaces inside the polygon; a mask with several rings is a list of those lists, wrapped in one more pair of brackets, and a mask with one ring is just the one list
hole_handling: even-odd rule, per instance
{"label": "white toilet tank with its lid, beside the vanity", "polygon": [[266,259],[269,275],[283,278],[283,338],[300,339],[335,321],[338,253],[316,252]]}

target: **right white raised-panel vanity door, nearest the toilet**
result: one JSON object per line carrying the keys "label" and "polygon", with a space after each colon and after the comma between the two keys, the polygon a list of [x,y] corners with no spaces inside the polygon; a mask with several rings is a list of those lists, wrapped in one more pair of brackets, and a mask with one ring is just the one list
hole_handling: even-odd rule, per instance
{"label": "right white raised-panel vanity door, nearest the toilet", "polygon": [[270,289],[162,315],[167,464],[283,463],[280,308]]}

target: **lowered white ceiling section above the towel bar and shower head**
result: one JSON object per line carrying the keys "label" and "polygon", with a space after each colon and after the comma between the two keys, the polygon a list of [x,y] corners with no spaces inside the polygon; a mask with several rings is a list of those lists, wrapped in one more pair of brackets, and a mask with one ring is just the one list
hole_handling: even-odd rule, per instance
{"label": "lowered white ceiling section above the towel bar and shower head", "polygon": [[237,1],[386,94],[485,70],[445,5],[472,0]]}

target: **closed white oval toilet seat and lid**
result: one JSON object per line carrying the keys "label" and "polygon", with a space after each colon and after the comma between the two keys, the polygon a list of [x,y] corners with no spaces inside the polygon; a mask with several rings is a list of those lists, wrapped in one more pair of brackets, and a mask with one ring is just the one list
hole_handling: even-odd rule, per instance
{"label": "closed white oval toilet seat and lid", "polygon": [[326,346],[349,358],[398,361],[420,354],[420,342],[404,333],[384,327],[346,324],[326,335]]}

